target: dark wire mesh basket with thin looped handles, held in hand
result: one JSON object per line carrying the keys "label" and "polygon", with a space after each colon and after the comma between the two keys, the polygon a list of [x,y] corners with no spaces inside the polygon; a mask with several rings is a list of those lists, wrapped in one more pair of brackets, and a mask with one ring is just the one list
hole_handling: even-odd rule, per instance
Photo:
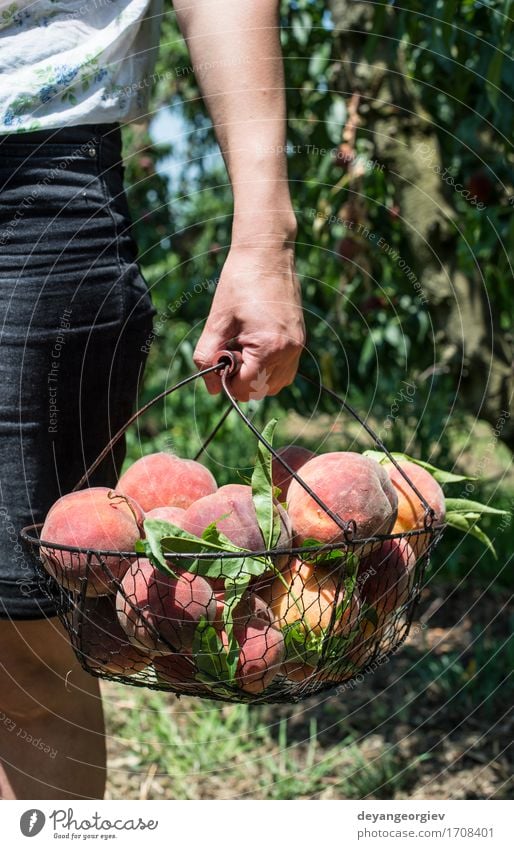
{"label": "dark wire mesh basket with thin looped handles, held in hand", "polygon": [[194,459],[235,410],[274,461],[337,525],[338,538],[302,546],[289,540],[274,549],[215,556],[205,550],[168,551],[163,555],[168,574],[141,552],[59,545],[41,539],[42,525],[24,528],[21,536],[41,563],[42,590],[54,602],[82,667],[98,678],[227,702],[298,702],[361,680],[409,633],[425,568],[444,525],[435,524],[432,507],[369,425],[321,386],[397,466],[424,510],[423,528],[358,539],[355,521],[330,510],[234,399],[229,378],[239,365],[237,354],[220,352],[215,366],[148,402],[115,434],[74,491],[87,484],[150,406],[218,371],[229,405]]}

